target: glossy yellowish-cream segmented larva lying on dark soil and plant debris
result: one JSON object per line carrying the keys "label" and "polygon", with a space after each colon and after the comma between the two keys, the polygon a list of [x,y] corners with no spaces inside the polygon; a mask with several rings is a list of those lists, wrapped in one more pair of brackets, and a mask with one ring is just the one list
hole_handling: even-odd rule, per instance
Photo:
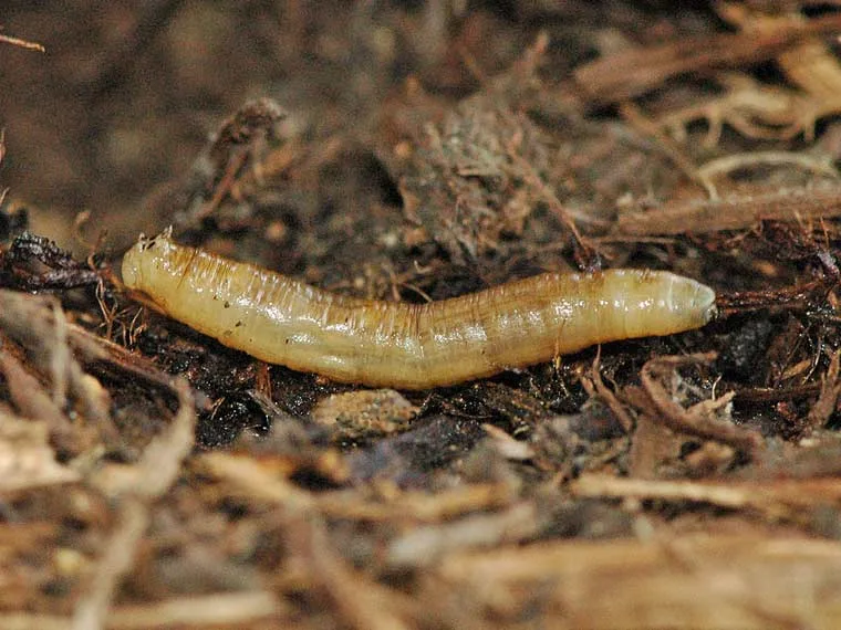
{"label": "glossy yellowish-cream segmented larva lying on dark soil and plant debris", "polygon": [[428,304],[360,300],[178,245],[167,233],[125,254],[123,281],[173,318],[264,361],[398,389],[679,333],[715,314],[708,286],[637,270],[544,273]]}

